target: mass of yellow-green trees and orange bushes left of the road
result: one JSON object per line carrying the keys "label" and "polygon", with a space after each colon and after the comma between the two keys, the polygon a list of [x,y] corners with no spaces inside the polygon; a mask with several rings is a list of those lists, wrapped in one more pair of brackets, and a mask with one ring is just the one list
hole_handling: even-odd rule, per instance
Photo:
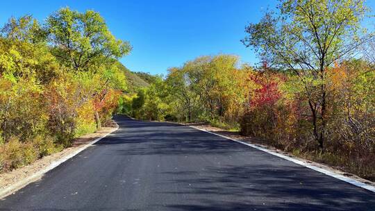
{"label": "mass of yellow-green trees and orange bushes left of the road", "polygon": [[99,129],[126,90],[117,58],[130,51],[94,11],[10,18],[0,34],[0,171]]}

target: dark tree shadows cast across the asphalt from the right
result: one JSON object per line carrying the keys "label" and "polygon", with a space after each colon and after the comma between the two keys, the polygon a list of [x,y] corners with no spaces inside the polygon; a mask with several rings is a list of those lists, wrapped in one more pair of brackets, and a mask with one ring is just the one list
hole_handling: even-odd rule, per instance
{"label": "dark tree shadows cast across the asphalt from the right", "polygon": [[[187,126],[126,119],[124,128],[113,137],[98,144],[132,144],[116,151],[124,156],[205,155],[227,160],[231,155],[251,156],[253,162],[246,165],[163,171],[163,178],[173,179],[156,185],[177,183],[183,188],[157,193],[165,197],[183,195],[188,202],[167,205],[172,210],[375,210],[374,194],[365,189]],[[228,195],[234,202],[225,200]]]}

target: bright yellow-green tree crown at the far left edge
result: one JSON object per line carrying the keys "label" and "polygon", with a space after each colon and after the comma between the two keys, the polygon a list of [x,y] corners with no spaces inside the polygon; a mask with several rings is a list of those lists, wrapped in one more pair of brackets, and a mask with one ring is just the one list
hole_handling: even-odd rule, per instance
{"label": "bright yellow-green tree crown at the far left edge", "polygon": [[44,42],[45,33],[31,15],[11,18],[0,32],[0,74],[35,76],[43,84],[58,75],[58,63]]}

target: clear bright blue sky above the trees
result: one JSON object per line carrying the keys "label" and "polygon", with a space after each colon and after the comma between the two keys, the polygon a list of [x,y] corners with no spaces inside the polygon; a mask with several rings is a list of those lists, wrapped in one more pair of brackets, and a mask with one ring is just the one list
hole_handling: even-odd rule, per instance
{"label": "clear bright blue sky above the trees", "polygon": [[[369,0],[370,7],[375,0]],[[43,21],[51,12],[69,6],[81,12],[100,12],[115,37],[133,46],[123,64],[133,71],[166,74],[197,56],[231,53],[242,62],[258,62],[240,40],[244,26],[258,22],[276,0],[158,0],[158,1],[3,1],[0,24],[9,17],[30,14]]]}

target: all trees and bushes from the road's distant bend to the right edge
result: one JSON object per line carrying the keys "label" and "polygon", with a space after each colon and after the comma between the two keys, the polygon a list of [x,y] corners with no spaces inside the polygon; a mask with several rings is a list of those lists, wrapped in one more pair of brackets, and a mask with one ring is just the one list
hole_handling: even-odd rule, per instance
{"label": "all trees and bushes from the road's distant bend to the right edge", "polygon": [[294,155],[375,180],[375,40],[363,1],[281,1],[242,43],[240,58],[201,56],[122,96],[138,119],[205,121]]}

